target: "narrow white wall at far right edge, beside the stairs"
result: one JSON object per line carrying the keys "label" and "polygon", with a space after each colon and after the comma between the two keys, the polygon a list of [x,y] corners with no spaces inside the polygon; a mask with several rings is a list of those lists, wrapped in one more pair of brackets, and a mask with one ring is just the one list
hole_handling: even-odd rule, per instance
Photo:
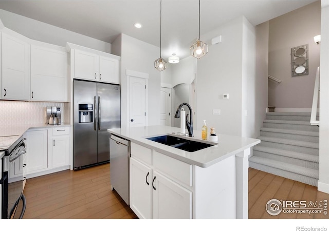
{"label": "narrow white wall at far right edge, beside the stairs", "polygon": [[[320,167],[318,190],[329,193],[329,0],[321,0]],[[324,89],[324,90],[321,90]]]}

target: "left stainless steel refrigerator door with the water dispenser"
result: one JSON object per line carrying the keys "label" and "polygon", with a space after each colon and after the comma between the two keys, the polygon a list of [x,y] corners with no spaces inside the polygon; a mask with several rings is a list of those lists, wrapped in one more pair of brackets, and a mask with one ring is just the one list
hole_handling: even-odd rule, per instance
{"label": "left stainless steel refrigerator door with the water dispenser", "polygon": [[[74,80],[74,168],[97,163],[96,95],[96,83]],[[79,104],[93,105],[92,122],[79,123]]]}

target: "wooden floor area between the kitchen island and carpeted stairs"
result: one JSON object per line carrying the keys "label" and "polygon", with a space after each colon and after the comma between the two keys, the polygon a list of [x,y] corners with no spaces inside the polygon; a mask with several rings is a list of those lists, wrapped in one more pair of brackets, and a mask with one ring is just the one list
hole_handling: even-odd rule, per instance
{"label": "wooden floor area between the kitchen island and carpeted stairs", "polygon": [[[314,207],[323,201],[329,201],[329,194],[318,191],[317,187],[289,180],[276,175],[268,174],[249,168],[249,219],[328,219],[326,213],[298,214],[281,213],[271,216],[266,211],[266,204],[271,199],[279,201],[312,201]],[[312,210],[312,209],[311,209]],[[328,209],[329,210],[329,209]]]}

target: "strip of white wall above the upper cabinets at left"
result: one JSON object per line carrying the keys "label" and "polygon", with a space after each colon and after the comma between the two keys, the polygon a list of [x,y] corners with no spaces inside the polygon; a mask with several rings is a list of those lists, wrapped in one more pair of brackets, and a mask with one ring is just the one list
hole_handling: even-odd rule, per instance
{"label": "strip of white wall above the upper cabinets at left", "polygon": [[5,27],[32,40],[65,47],[66,43],[111,53],[111,44],[50,24],[32,20],[19,14],[0,9],[0,19]]}

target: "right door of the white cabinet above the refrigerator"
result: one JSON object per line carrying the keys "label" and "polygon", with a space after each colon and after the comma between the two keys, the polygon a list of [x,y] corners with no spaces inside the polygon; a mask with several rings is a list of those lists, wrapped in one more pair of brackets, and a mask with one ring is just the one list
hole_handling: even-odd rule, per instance
{"label": "right door of the white cabinet above the refrigerator", "polygon": [[99,56],[99,81],[119,83],[119,60]]}

